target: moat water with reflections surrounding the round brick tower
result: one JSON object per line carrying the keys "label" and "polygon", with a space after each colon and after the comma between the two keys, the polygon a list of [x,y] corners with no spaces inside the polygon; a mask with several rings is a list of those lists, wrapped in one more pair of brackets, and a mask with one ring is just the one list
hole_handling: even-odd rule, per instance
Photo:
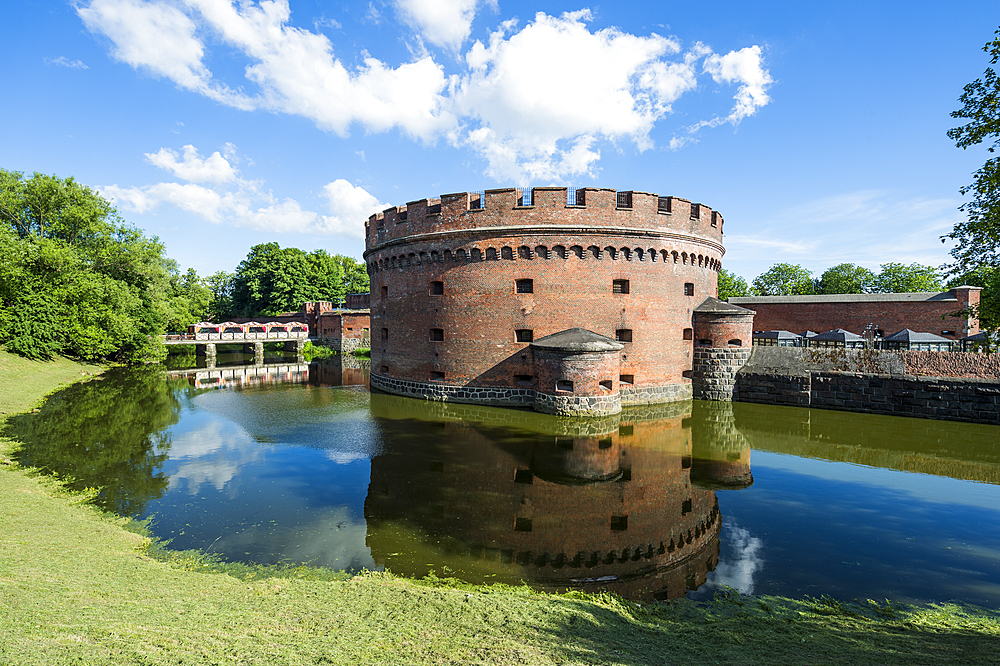
{"label": "moat water with reflections surrounding the round brick tower", "polygon": [[560,419],[267,361],[110,371],[6,434],[22,464],[229,561],[1000,607],[1000,426],[697,401]]}

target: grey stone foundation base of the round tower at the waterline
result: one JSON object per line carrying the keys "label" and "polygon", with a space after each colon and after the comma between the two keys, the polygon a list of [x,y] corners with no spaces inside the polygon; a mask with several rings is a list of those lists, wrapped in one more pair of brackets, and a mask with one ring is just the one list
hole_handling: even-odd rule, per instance
{"label": "grey stone foundation base of the round tower at the waterline", "polygon": [[546,414],[563,416],[602,416],[617,414],[622,405],[648,405],[691,399],[691,384],[622,387],[618,395],[554,396],[533,388],[455,386],[437,382],[394,379],[371,373],[371,388],[435,402],[460,402],[495,407],[532,408]]}

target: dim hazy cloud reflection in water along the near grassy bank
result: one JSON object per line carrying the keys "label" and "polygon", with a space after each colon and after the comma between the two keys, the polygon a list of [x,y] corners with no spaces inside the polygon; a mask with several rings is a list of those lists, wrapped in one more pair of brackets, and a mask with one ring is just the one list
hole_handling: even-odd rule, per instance
{"label": "dim hazy cloud reflection in water along the near grassy bank", "polygon": [[355,522],[346,506],[332,507],[305,524],[280,527],[257,525],[219,539],[212,549],[229,553],[234,560],[262,564],[308,563],[332,569],[374,569],[365,544],[367,525]]}

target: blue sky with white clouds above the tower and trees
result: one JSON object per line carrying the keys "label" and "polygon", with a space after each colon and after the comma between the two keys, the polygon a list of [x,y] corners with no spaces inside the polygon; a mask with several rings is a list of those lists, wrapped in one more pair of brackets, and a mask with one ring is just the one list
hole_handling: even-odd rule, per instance
{"label": "blue sky with white clouds above the tower and trees", "polygon": [[374,210],[599,186],[726,219],[726,268],[939,265],[986,159],[945,132],[995,2],[26,0],[0,167],[77,180],[182,267],[361,257]]}

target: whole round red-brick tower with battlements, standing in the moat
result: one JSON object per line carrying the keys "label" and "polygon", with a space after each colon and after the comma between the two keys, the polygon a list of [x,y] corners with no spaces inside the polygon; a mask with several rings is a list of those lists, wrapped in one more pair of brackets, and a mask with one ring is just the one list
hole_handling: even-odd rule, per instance
{"label": "whole round red-brick tower with battlements, standing in the moat", "polygon": [[[580,415],[690,398],[692,310],[716,294],[721,215],[644,192],[570,195],[463,192],[372,216],[371,386]],[[571,329],[621,348],[532,346]]]}

